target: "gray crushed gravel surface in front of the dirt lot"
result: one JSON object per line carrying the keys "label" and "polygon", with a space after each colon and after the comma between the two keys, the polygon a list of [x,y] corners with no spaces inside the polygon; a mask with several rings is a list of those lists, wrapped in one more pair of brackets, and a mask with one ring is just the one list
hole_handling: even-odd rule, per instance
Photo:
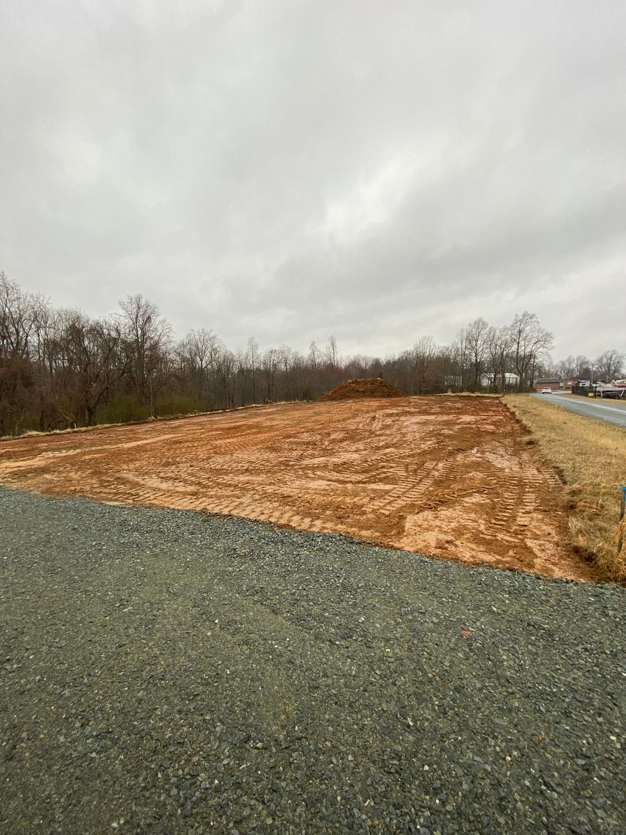
{"label": "gray crushed gravel surface in front of the dirt lot", "polygon": [[0,524],[2,832],[626,831],[622,588],[6,490]]}

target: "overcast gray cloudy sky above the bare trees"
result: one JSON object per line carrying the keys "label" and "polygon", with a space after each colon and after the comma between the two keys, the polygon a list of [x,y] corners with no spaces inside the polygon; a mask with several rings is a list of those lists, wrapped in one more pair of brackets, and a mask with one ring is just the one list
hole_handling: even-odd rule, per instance
{"label": "overcast gray cloudy sky above the bare trees", "polygon": [[626,5],[3,0],[0,269],[177,335],[626,349]]}

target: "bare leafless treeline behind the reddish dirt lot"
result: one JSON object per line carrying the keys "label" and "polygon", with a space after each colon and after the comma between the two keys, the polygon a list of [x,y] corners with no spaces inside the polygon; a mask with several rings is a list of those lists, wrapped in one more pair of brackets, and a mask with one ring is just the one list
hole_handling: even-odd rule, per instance
{"label": "bare leafless treeline behind the reddish dirt lot", "polygon": [[385,358],[340,357],[335,337],[311,342],[306,355],[285,345],[261,351],[252,337],[233,352],[204,328],[174,340],[143,296],[93,319],[0,273],[0,435],[312,400],[353,377],[385,377],[407,394],[502,392],[545,372],[552,342],[524,312],[503,327],[477,319],[448,346],[420,337]]}

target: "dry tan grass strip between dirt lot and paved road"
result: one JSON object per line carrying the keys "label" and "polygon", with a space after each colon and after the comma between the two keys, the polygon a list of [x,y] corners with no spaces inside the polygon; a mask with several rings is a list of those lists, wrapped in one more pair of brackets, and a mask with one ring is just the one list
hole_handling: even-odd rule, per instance
{"label": "dry tan grass strip between dirt lot and paved road", "polygon": [[601,579],[626,582],[626,542],[618,554],[626,432],[528,395],[510,395],[504,402],[530,430],[543,459],[563,476],[573,547],[593,560]]}

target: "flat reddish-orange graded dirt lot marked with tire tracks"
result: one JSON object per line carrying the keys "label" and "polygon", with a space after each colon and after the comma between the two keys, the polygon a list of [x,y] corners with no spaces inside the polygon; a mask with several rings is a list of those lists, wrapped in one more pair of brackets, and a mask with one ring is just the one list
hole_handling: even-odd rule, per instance
{"label": "flat reddish-orange graded dirt lot marked with tire tracks", "polygon": [[0,480],[593,579],[562,544],[557,473],[491,397],[290,404],[18,438],[0,443]]}

